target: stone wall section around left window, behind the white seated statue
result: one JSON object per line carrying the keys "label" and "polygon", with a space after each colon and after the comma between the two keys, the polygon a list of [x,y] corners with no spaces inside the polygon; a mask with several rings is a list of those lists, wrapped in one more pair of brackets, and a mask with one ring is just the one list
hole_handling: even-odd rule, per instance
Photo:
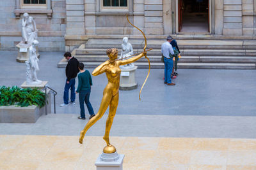
{"label": "stone wall section around left window, behind the white seated statue", "polygon": [[[30,13],[36,21],[40,51],[64,51],[66,31],[65,0],[51,0],[51,18],[47,13]],[[21,41],[21,18],[15,16],[17,10],[15,0],[0,1],[0,50],[17,50]],[[35,12],[35,11],[34,11]],[[23,13],[21,13],[22,16]]]}

